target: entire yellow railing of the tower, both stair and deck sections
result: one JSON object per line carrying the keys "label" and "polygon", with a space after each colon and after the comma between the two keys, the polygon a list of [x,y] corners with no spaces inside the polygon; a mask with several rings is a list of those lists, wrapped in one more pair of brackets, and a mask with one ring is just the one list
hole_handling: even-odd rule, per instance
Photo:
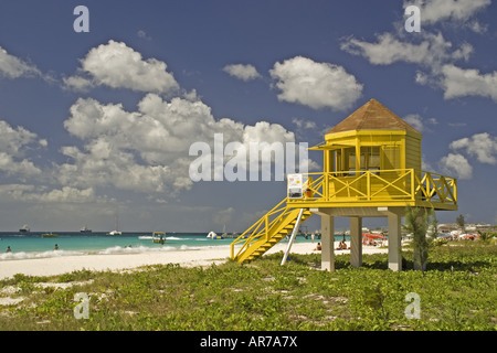
{"label": "entire yellow railing of the tower, both stair and deck sections", "polygon": [[[457,208],[454,178],[414,169],[368,170],[304,174],[302,199],[283,199],[233,243],[231,258],[239,258],[255,242],[268,243],[290,221],[296,208],[313,206],[422,205],[438,210]],[[293,214],[294,213],[294,214]],[[235,254],[235,246],[242,244]],[[248,253],[247,253],[248,254]],[[243,256],[243,255],[242,255]]]}

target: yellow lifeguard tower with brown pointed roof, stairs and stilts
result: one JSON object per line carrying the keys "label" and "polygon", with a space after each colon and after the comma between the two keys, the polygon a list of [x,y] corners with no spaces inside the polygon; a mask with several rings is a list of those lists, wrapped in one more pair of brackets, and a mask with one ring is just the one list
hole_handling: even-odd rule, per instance
{"label": "yellow lifeguard tower with brown pointed roof, stairs and stilts", "polygon": [[231,245],[239,263],[262,256],[313,214],[321,217],[321,269],[335,269],[334,218],[350,217],[350,261],[362,263],[362,217],[388,217],[389,268],[402,269],[401,217],[406,205],[457,210],[456,180],[421,170],[420,131],[376,99],[331,128],[324,171],[303,174],[302,196],[292,195]]}

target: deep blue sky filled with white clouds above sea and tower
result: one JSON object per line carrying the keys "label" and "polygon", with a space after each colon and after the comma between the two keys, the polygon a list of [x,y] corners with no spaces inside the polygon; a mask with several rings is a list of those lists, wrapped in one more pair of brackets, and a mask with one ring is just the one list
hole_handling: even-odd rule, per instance
{"label": "deep blue sky filled with white clouds above sea and tower", "polygon": [[194,183],[191,143],[314,146],[370,98],[422,130],[425,170],[458,178],[440,221],[495,223],[496,15],[490,0],[2,1],[0,229],[110,231],[118,212],[125,232],[242,232],[286,182]]}

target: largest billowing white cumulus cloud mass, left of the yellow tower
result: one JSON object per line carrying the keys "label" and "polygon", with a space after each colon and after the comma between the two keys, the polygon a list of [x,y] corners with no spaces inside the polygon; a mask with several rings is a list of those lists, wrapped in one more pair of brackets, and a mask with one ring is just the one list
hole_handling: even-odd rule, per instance
{"label": "largest billowing white cumulus cloud mass, left of the yellow tower", "polygon": [[194,159],[189,156],[190,146],[207,142],[213,151],[214,133],[223,133],[224,143],[240,141],[246,146],[295,140],[294,133],[278,124],[244,126],[233,119],[215,119],[202,101],[179,97],[165,100],[157,94],[147,94],[136,111],[126,111],[120,104],[80,98],[64,127],[84,147],[62,149],[70,158],[57,169],[62,185],[112,185],[144,193],[190,189],[189,167]]}

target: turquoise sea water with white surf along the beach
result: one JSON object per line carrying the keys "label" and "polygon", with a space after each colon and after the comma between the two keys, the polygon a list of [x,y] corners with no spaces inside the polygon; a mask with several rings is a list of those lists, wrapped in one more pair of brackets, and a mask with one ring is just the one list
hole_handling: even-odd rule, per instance
{"label": "turquoise sea water with white surf along the beach", "polygon": [[[210,239],[207,233],[167,233],[163,245],[152,243],[151,233],[106,233],[83,234],[80,232],[53,232],[57,237],[43,238],[43,233],[0,232],[0,261],[27,258],[44,258],[78,255],[137,254],[145,252],[195,250],[203,247],[224,246],[226,257],[230,256],[230,244],[234,238]],[[341,238],[341,236],[340,236]],[[348,238],[348,237],[347,237]],[[337,238],[336,238],[337,239]],[[282,240],[287,242],[287,240]],[[298,235],[297,243],[310,243]],[[315,239],[319,242],[319,239]],[[59,249],[55,248],[55,244]],[[7,253],[10,246],[11,252]],[[309,246],[311,246],[309,244]]]}

